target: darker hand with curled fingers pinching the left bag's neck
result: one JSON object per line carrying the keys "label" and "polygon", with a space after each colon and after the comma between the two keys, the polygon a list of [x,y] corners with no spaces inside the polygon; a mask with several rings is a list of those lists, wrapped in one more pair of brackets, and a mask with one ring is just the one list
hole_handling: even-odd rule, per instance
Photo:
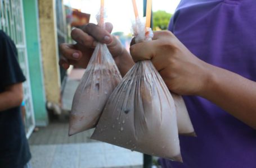
{"label": "darker hand with curled fingers pinching the left bag's neck", "polygon": [[78,68],[86,68],[97,41],[107,44],[114,59],[122,55],[125,49],[120,41],[110,34],[113,25],[106,23],[105,26],[106,30],[95,24],[87,24],[82,30],[72,30],[71,37],[77,44],[60,45],[60,51],[62,53],[59,61],[60,66],[65,69],[68,69],[70,65]]}

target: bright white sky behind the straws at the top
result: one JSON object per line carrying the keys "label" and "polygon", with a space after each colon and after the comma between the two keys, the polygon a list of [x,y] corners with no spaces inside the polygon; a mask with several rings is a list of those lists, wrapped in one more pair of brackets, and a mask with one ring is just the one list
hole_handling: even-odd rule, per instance
{"label": "bright white sky behind the straws at the top", "polygon": [[[180,0],[152,0],[152,11],[163,10],[174,13]],[[143,0],[136,0],[139,16],[143,16]],[[100,0],[64,0],[73,8],[84,13],[91,14],[90,22],[97,23],[96,15],[100,9]],[[123,31],[124,34],[131,32],[134,13],[132,0],[105,0],[106,21],[114,25],[113,32]]]}

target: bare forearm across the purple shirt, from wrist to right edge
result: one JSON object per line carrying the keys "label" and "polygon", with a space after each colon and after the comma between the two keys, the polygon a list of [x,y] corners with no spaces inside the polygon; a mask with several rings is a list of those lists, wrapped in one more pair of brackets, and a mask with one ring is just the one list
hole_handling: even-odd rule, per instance
{"label": "bare forearm across the purple shirt, from wrist to right edge", "polygon": [[199,95],[256,129],[256,82],[222,68],[206,66],[209,78]]}

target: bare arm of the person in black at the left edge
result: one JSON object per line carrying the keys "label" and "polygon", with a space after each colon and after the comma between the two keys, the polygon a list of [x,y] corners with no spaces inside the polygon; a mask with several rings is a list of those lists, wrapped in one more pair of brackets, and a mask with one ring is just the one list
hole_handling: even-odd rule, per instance
{"label": "bare arm of the person in black at the left edge", "polygon": [[23,85],[16,83],[6,87],[5,91],[0,94],[0,111],[20,106],[23,101]]}

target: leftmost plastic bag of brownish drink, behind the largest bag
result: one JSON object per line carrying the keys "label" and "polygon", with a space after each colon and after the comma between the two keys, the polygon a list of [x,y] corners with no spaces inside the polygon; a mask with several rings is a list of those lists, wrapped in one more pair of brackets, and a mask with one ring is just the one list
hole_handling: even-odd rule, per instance
{"label": "leftmost plastic bag of brownish drink, behind the largest bag", "polygon": [[106,44],[98,43],[75,91],[70,114],[70,136],[96,126],[107,99],[121,79]]}

